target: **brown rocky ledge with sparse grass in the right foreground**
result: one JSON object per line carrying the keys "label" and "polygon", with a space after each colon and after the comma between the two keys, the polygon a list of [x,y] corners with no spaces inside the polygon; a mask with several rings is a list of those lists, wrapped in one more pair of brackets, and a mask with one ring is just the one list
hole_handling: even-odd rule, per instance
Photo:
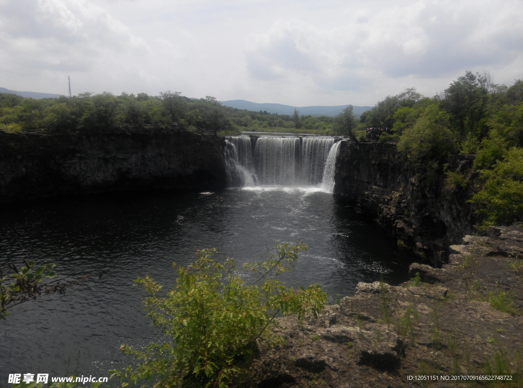
{"label": "brown rocky ledge with sparse grass in the right foreground", "polygon": [[[410,282],[359,283],[318,317],[280,318],[239,386],[523,386],[523,224],[450,249],[442,268],[412,264]],[[512,380],[416,381],[492,374]]]}

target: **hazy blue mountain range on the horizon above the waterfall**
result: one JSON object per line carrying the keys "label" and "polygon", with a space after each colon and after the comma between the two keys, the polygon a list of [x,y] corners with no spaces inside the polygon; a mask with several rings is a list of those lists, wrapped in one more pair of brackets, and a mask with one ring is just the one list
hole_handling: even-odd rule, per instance
{"label": "hazy blue mountain range on the horizon above the waterfall", "polygon": [[[268,113],[278,113],[280,115],[292,115],[294,109],[300,111],[300,116],[336,116],[342,112],[347,105],[337,106],[291,106],[282,104],[258,104],[244,99],[231,99],[229,101],[220,101],[222,105],[230,106],[232,108],[253,110],[254,112],[267,111]],[[355,116],[361,115],[366,110],[372,109],[372,106],[353,106],[353,113]]]}

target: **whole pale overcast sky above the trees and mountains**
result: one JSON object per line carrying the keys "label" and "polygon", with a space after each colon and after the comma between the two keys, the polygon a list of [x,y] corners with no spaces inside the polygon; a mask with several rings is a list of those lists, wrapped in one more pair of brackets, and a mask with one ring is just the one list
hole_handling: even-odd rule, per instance
{"label": "whole pale overcast sky above the trees and mountains", "polygon": [[373,106],[523,78],[522,0],[0,0],[0,87]]}

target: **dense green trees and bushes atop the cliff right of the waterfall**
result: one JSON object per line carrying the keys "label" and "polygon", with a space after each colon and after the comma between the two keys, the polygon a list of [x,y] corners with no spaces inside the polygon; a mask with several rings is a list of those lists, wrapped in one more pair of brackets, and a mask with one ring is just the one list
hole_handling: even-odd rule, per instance
{"label": "dense green trees and bushes atop the cliff right of the waterfall", "polygon": [[476,154],[474,167],[480,169],[484,187],[472,203],[484,217],[483,225],[521,216],[523,186],[516,155],[523,147],[523,80],[507,87],[494,84],[488,73],[467,71],[431,98],[410,88],[361,115],[356,128],[360,141],[369,141],[366,128],[386,129],[380,141],[397,143],[422,189],[433,192],[444,182],[465,189],[465,178],[447,171],[447,163],[456,152]]}

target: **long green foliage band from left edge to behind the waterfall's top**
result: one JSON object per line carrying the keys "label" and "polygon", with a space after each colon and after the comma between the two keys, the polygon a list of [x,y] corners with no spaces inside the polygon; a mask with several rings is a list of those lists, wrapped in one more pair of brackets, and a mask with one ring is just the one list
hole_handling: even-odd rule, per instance
{"label": "long green foliage band from left edge to behind the waterfall's top", "polygon": [[270,114],[225,107],[216,98],[191,99],[180,92],[158,96],[81,93],[71,98],[24,98],[0,93],[0,130],[76,132],[100,128],[165,128],[221,135],[241,131],[335,134],[334,117]]}

